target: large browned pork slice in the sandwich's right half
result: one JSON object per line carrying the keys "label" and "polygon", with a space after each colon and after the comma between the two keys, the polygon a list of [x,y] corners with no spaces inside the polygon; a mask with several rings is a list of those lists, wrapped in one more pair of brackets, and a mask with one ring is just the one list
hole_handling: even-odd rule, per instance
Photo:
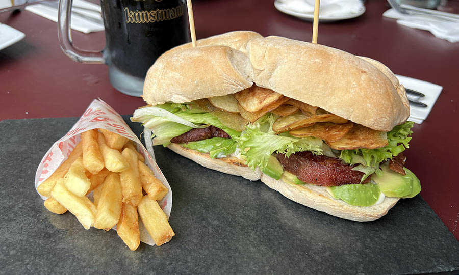
{"label": "large browned pork slice in the sandwich's right half", "polygon": [[[296,152],[290,157],[277,154],[284,170],[296,175],[299,180],[320,186],[340,186],[358,184],[364,173],[353,171],[352,166],[341,160],[324,155],[314,155],[310,151]],[[362,183],[370,181],[366,178]]]}

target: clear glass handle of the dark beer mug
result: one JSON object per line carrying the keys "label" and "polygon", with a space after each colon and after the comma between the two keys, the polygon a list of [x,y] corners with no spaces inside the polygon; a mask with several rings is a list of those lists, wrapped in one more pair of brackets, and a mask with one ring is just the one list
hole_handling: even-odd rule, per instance
{"label": "clear glass handle of the dark beer mug", "polygon": [[82,50],[73,45],[70,22],[73,0],[59,1],[58,37],[61,48],[69,58],[81,63],[105,64],[102,51]]}

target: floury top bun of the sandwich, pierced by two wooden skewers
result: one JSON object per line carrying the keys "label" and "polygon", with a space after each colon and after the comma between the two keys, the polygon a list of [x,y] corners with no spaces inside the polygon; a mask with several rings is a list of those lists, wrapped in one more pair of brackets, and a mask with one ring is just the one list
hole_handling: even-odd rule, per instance
{"label": "floury top bun of the sandwich, pierced by two wooden skewers", "polygon": [[175,47],[147,72],[151,105],[234,94],[252,84],[378,131],[407,120],[406,92],[383,64],[324,45],[230,32]]}

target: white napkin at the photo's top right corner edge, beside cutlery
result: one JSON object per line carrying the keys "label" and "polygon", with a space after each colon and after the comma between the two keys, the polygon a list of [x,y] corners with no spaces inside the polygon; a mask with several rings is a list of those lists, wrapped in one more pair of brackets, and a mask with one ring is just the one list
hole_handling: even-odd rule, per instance
{"label": "white napkin at the photo's top right corner edge, beside cutlery", "polygon": [[436,37],[452,43],[459,41],[459,20],[452,22],[423,14],[402,14],[394,9],[385,11],[382,16],[397,19],[397,23],[410,28],[429,31]]}

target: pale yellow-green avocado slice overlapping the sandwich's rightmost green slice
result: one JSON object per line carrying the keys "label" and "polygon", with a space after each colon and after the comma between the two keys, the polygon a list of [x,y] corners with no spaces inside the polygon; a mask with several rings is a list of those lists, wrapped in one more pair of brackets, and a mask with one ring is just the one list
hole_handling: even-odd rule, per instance
{"label": "pale yellow-green avocado slice overlapping the sandwich's rightmost green slice", "polygon": [[413,191],[413,178],[411,174],[401,175],[389,169],[389,166],[380,166],[382,175],[374,174],[371,179],[374,180],[381,189],[381,192],[388,197],[402,198],[409,196]]}

